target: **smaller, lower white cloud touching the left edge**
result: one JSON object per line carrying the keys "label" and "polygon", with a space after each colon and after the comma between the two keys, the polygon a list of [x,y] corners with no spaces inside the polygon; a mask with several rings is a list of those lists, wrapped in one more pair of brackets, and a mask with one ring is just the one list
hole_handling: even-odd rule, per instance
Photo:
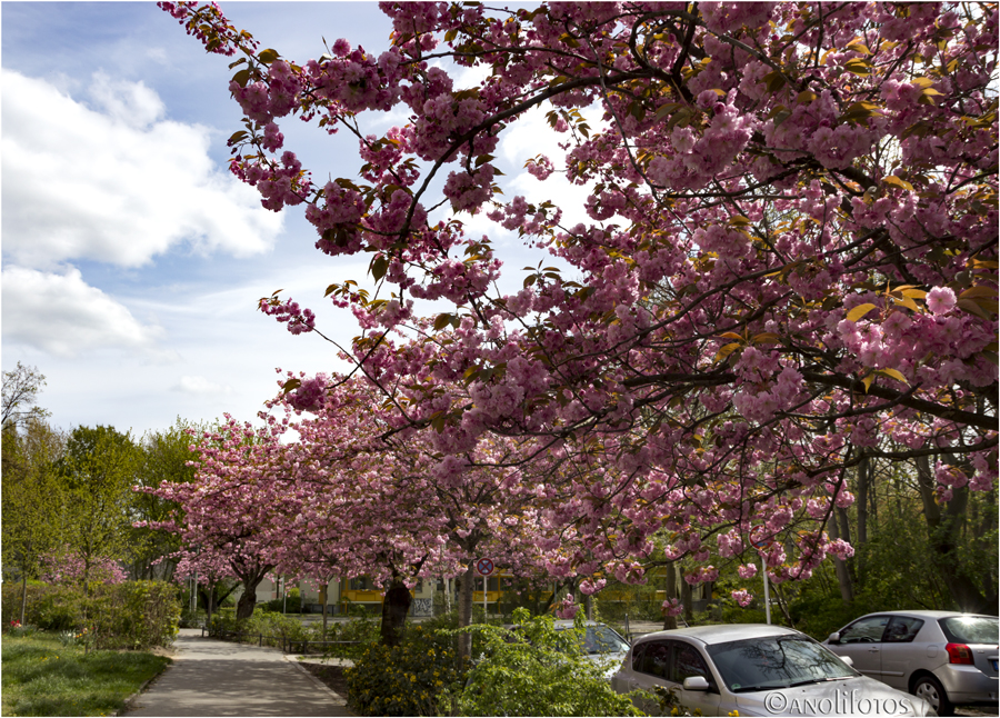
{"label": "smaller, lower white cloud touching the left edge", "polygon": [[73,357],[108,347],[153,350],[163,333],[88,286],[78,269],[57,275],[4,267],[2,277],[6,341]]}

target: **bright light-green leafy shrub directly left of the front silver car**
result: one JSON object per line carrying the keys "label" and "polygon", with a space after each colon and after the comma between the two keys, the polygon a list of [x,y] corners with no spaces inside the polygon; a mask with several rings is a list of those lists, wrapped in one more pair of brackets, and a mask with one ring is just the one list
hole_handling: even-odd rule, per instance
{"label": "bright light-green leafy shrub directly left of the front silver car", "polygon": [[628,696],[612,690],[602,668],[583,657],[577,631],[557,631],[550,616],[517,609],[521,640],[492,626],[486,651],[469,672],[451,710],[460,716],[639,716]]}

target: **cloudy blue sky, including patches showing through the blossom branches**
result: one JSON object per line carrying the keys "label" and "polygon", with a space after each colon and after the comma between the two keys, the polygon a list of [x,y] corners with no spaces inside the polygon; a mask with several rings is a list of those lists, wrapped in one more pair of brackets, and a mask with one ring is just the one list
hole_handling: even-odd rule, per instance
{"label": "cloudy blue sky, including patches showing through the blossom branches", "polygon": [[[391,26],[373,2],[220,4],[297,62],[321,54],[322,38],[388,47]],[[229,174],[226,139],[241,129],[230,59],[206,54],[152,2],[4,2],[0,30],[2,366],[46,375],[39,403],[56,426],[138,437],[177,417],[252,420],[277,391],[274,368],[344,368],[316,336],[292,337],[256,310],[283,288],[347,342],[353,317],[322,292],[362,280],[368,258],[324,257],[301,207],[267,211]],[[404,121],[362,124],[381,134]],[[281,129],[318,181],[357,177],[347,134],[291,119]],[[521,171],[554,142],[544,129],[538,113],[504,139],[507,197],[550,197],[572,218],[579,188],[539,193]],[[514,270],[539,259],[481,218],[470,230],[506,247]],[[504,291],[520,283],[508,281]]]}

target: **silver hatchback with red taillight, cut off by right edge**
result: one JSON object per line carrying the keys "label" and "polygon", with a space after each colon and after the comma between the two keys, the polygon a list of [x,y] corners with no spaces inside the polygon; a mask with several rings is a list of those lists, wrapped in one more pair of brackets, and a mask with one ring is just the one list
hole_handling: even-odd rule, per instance
{"label": "silver hatchback with red taillight, cut off by right edge", "polygon": [[927,700],[939,715],[954,706],[997,706],[996,616],[883,611],[862,616],[824,644],[854,668]]}

